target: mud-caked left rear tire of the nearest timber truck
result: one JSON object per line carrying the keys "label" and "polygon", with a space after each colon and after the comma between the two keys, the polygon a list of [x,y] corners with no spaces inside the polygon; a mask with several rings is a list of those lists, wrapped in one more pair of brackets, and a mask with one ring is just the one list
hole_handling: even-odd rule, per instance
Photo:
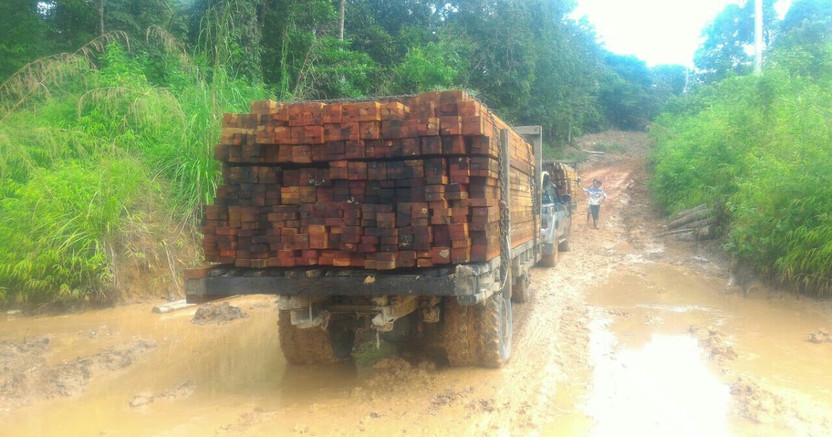
{"label": "mud-caked left rear tire of the nearest timber truck", "polygon": [[291,364],[334,364],[349,359],[355,341],[355,331],[344,329],[334,320],[326,330],[319,326],[309,329],[292,325],[290,311],[278,315],[280,350]]}

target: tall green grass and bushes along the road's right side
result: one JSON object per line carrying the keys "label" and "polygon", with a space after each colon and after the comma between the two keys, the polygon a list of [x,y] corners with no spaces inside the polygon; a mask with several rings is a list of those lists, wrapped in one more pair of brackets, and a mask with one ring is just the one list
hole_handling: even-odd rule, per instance
{"label": "tall green grass and bushes along the road's right side", "polygon": [[[832,58],[830,58],[832,59]],[[830,62],[824,65],[832,65]],[[803,291],[832,291],[832,75],[771,62],[656,122],[651,189],[668,212],[726,213],[726,250]]]}

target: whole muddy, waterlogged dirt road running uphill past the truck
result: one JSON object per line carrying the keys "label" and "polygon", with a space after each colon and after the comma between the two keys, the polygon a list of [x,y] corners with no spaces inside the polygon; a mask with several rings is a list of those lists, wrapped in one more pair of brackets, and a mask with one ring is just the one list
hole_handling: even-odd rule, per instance
{"label": "whole muddy, waterlogged dirt road running uphill past the truck", "polygon": [[[646,138],[626,137],[641,144]],[[623,141],[623,140],[622,140]],[[655,237],[641,156],[582,170],[573,251],[536,269],[502,370],[391,345],[335,368],[285,364],[274,298],[248,317],[131,305],[0,319],[3,435],[830,435],[828,302],[740,283],[709,246]],[[583,201],[583,199],[582,199]],[[814,333],[812,340],[808,335]],[[624,433],[624,431],[627,431]]]}

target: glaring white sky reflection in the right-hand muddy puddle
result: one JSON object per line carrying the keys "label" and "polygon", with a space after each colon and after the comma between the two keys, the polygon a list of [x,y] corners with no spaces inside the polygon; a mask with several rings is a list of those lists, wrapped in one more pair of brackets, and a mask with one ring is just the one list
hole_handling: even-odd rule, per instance
{"label": "glaring white sky reflection in the right-hand muddy puddle", "polygon": [[[601,322],[602,323],[602,322]],[[595,435],[727,435],[729,401],[689,335],[653,335],[620,349],[605,326],[592,326],[592,395],[586,410]]]}

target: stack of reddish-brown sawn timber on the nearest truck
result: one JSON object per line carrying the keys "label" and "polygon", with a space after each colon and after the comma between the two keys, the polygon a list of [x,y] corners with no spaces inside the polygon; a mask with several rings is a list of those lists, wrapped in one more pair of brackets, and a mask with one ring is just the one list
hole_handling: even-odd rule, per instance
{"label": "stack of reddish-brown sawn timber on the nearest truck", "polygon": [[465,92],[252,102],[249,114],[225,114],[206,261],[388,270],[491,260],[502,129],[516,247],[535,235],[532,146]]}

